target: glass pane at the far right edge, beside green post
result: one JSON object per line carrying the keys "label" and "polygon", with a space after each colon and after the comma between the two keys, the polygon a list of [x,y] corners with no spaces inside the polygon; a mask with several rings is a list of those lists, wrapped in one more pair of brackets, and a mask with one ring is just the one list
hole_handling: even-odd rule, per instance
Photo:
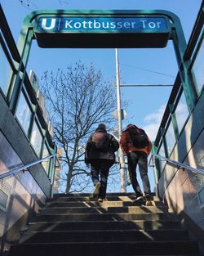
{"label": "glass pane at the far right edge, beside green post", "polygon": [[196,85],[197,92],[201,92],[204,84],[204,38],[202,38],[202,44],[197,52],[197,56],[192,66],[193,82]]}

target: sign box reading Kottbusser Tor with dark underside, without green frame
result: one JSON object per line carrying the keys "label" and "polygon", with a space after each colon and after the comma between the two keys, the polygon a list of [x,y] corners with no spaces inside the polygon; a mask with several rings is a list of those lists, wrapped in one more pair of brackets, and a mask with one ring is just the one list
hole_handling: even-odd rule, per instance
{"label": "sign box reading Kottbusser Tor with dark underside, without green frame", "polygon": [[40,47],[165,47],[170,32],[162,15],[44,15],[34,27]]}

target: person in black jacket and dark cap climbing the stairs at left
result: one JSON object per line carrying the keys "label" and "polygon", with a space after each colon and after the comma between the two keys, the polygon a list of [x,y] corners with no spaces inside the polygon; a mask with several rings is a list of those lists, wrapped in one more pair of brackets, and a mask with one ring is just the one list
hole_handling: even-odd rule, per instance
{"label": "person in black jacket and dark cap climbing the stairs at left", "polygon": [[[97,148],[95,146],[94,137],[97,132],[100,135],[107,137],[106,146]],[[101,134],[103,132],[103,134]],[[91,178],[95,186],[93,196],[98,196],[98,200],[103,202],[106,196],[107,182],[109,176],[109,168],[115,163],[115,151],[119,148],[119,143],[106,131],[104,124],[99,124],[95,132],[91,134],[85,150],[85,163],[89,167],[91,164]]]}

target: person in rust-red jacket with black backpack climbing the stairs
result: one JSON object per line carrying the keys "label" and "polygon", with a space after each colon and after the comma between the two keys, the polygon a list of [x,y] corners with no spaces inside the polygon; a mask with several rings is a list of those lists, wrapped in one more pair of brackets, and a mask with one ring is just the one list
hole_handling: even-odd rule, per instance
{"label": "person in rust-red jacket with black backpack climbing the stairs", "polygon": [[[136,195],[135,202],[144,204],[144,200],[146,200],[146,205],[152,205],[148,177],[148,155],[152,150],[152,142],[144,130],[137,128],[134,124],[128,124],[126,130],[122,132],[120,146],[127,155],[131,184]],[[144,187],[144,197],[136,177],[137,164]]]}

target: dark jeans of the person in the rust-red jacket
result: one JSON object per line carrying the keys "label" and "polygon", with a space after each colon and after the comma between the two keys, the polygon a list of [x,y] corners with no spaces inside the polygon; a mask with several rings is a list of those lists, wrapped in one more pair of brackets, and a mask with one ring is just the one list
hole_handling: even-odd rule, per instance
{"label": "dark jeans of the person in the rust-red jacket", "polygon": [[140,185],[137,181],[136,167],[139,166],[140,177],[142,179],[144,194],[151,193],[149,177],[148,177],[148,157],[143,151],[132,151],[127,155],[128,170],[131,177],[131,185],[136,196],[142,195]]}

